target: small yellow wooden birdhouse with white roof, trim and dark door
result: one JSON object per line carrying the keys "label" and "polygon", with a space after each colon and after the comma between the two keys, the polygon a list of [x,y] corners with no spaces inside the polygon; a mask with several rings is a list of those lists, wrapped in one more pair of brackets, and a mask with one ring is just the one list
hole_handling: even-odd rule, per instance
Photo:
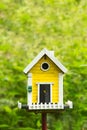
{"label": "small yellow wooden birdhouse with white roof, trim and dark door", "polygon": [[67,69],[54,56],[54,51],[43,49],[24,69],[28,77],[27,108],[64,109],[63,75],[66,71]]}

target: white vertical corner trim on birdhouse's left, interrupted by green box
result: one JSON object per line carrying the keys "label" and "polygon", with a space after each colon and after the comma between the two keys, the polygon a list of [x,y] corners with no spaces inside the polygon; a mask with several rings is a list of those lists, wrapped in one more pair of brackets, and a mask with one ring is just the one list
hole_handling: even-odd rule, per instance
{"label": "white vertical corner trim on birdhouse's left, interrupted by green box", "polygon": [[[32,86],[32,73],[28,74],[28,86]],[[32,104],[32,92],[27,92],[27,104]]]}

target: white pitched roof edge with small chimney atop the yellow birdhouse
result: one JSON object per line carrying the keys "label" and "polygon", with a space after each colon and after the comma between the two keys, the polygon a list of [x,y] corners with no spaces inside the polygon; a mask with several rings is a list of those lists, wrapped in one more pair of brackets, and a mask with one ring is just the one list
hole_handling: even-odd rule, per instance
{"label": "white pitched roof edge with small chimney atop the yellow birdhouse", "polygon": [[47,55],[57,66],[58,68],[66,73],[67,69],[54,57],[54,51],[48,51],[47,49],[43,49],[34,60],[24,69],[24,73],[27,74],[29,70],[44,56]]}

